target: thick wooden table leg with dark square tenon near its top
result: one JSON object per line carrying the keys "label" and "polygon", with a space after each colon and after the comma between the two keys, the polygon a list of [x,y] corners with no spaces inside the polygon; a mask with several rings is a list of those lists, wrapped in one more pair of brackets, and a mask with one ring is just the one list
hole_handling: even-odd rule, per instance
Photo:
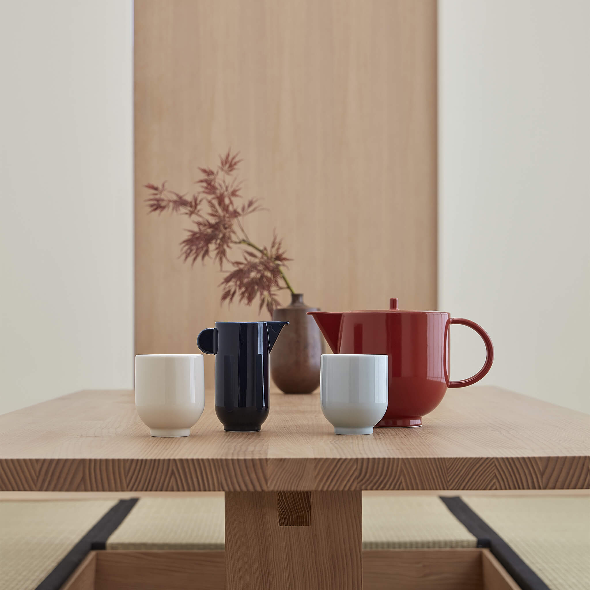
{"label": "thick wooden table leg with dark square tenon near its top", "polygon": [[360,590],[360,491],[225,492],[225,590]]}

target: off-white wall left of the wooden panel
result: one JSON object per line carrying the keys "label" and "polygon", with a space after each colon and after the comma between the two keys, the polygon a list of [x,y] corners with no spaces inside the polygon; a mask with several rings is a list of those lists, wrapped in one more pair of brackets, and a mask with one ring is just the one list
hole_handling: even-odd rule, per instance
{"label": "off-white wall left of the wooden panel", "polygon": [[133,375],[132,5],[0,9],[0,413]]}

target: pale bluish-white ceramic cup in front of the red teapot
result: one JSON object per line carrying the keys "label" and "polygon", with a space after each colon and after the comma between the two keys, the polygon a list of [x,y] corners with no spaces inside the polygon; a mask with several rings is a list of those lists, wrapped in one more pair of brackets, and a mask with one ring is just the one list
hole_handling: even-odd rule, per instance
{"label": "pale bluish-white ceramic cup in front of the red teapot", "polygon": [[335,434],[373,434],[387,409],[387,355],[322,355],[320,403]]}

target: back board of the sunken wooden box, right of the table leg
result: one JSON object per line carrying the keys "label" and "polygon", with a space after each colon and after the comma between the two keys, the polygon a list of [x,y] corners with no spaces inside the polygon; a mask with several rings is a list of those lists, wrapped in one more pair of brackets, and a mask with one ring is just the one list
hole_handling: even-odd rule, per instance
{"label": "back board of the sunken wooden box, right of the table leg", "polygon": [[363,551],[364,590],[481,590],[480,549]]}

